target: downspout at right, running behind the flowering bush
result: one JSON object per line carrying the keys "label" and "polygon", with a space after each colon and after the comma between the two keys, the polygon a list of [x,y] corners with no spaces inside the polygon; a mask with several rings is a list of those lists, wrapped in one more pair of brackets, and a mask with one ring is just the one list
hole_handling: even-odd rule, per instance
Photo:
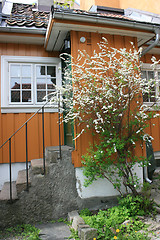
{"label": "downspout at right, running behind the flowering bush", "polygon": [[[155,34],[156,34],[156,40],[155,40],[150,46],[148,46],[146,49],[144,49],[144,50],[142,51],[141,57],[144,56],[147,52],[149,52],[152,48],[154,48],[154,47],[158,44],[159,39],[160,39],[160,29],[159,29],[159,28],[157,28],[157,29],[155,30]],[[148,182],[148,183],[151,184],[151,183],[152,183],[152,180],[150,180],[150,179],[148,178],[147,166],[145,166],[145,167],[143,168],[143,171],[144,171],[144,179],[146,180],[146,182]]]}

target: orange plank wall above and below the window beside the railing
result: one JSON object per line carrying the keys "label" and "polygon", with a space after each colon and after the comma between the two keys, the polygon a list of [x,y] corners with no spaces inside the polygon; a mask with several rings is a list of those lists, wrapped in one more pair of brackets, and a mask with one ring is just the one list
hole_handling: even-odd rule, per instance
{"label": "orange plank wall above and below the window beside the railing", "polygon": [[[46,52],[43,46],[0,43],[0,56],[38,56],[58,57],[58,52]],[[32,113],[33,114],[33,113]],[[0,112],[0,145],[4,143],[27,119],[31,113]],[[58,138],[58,114],[45,113],[45,146],[56,146]],[[63,126],[62,126],[63,128]],[[63,129],[62,129],[63,135]],[[62,136],[63,139],[63,136]],[[25,161],[25,128],[20,130],[12,140],[12,162]],[[28,154],[29,160],[42,157],[42,114],[37,114],[28,123]],[[0,163],[9,161],[8,143],[0,149]]]}

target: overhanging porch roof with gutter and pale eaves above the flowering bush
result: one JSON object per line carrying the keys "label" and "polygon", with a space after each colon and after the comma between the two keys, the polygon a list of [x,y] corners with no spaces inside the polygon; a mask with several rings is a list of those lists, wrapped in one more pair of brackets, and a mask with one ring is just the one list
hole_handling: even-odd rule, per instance
{"label": "overhanging porch roof with gutter and pale eaves above the flowering bush", "polygon": [[142,45],[155,36],[157,23],[138,21],[125,15],[123,9],[102,9],[105,11],[83,11],[77,9],[51,8],[52,18],[45,38],[47,51],[60,51],[68,32],[99,32],[138,38]]}

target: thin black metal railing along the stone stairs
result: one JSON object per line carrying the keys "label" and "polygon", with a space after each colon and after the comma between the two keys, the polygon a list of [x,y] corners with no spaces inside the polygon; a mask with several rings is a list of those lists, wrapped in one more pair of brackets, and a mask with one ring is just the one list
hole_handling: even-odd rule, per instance
{"label": "thin black metal railing along the stone stairs", "polygon": [[[61,159],[61,129],[60,129],[60,94],[58,95],[58,125],[59,125],[59,158]],[[50,102],[46,101],[20,128],[18,128],[1,146],[0,149],[8,142],[9,143],[9,181],[10,181],[10,202],[12,202],[12,159],[11,159],[11,141],[17,132],[25,126],[25,145],[26,145],[26,191],[29,191],[29,172],[28,172],[28,122],[34,116],[42,111],[42,141],[43,141],[43,173],[46,173],[46,159],[45,159],[45,131],[44,131],[44,108]]]}

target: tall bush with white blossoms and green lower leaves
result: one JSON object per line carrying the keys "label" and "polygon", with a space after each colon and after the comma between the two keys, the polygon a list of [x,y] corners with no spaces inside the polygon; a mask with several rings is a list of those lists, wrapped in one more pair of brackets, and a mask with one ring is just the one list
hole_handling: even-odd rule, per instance
{"label": "tall bush with white blossoms and green lower leaves", "polygon": [[[98,135],[98,141],[83,156],[86,186],[106,178],[120,194],[123,184],[127,193],[131,190],[137,195],[138,177],[133,166],[143,166],[145,161],[135,156],[134,149],[136,144],[143,148],[148,120],[157,116],[143,103],[143,95],[151,94],[154,82],[141,78],[140,51],[133,45],[129,51],[109,48],[106,39],[98,45],[99,52],[92,56],[79,51],[71,63],[65,57],[72,73],[67,67],[65,84],[57,87],[67,109],[63,121],[73,120],[81,126],[76,137],[87,129]],[[56,93],[52,100],[55,98]]]}

